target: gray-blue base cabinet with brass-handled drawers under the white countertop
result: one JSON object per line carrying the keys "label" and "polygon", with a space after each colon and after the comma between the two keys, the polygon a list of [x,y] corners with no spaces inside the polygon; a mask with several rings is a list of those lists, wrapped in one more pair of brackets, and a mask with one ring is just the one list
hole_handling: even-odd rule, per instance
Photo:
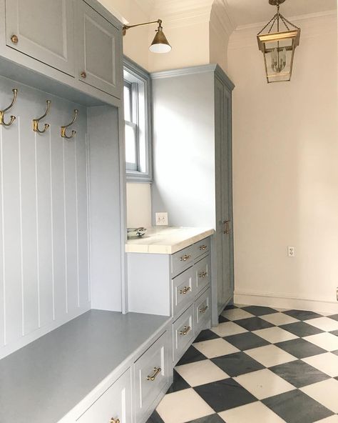
{"label": "gray-blue base cabinet with brass-handled drawers under the white countertop", "polygon": [[173,364],[210,327],[210,263],[209,237],[175,254],[128,253],[129,311],[172,317]]}

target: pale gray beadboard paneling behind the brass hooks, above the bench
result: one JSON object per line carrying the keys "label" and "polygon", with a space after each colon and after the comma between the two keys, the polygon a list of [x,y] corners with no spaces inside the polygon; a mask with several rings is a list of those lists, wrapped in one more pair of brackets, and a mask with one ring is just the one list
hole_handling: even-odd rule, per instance
{"label": "pale gray beadboard paneling behind the brass hooks, above the bench", "polygon": [[[86,108],[3,77],[0,108],[12,88],[16,121],[0,126],[0,358],[91,308]],[[31,120],[47,99],[38,134]],[[73,109],[76,136],[62,139]]]}

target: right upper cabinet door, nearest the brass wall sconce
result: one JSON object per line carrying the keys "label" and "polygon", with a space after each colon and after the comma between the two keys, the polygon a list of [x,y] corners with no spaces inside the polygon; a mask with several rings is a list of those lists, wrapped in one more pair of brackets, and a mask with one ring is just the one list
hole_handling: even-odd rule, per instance
{"label": "right upper cabinet door, nearest the brass wall sconce", "polygon": [[121,98],[121,31],[82,0],[76,0],[78,78]]}

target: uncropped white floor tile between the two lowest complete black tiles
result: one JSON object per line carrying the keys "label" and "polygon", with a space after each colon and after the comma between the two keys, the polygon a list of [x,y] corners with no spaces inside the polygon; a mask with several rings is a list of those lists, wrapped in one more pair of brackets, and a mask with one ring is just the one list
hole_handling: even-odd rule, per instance
{"label": "uncropped white floor tile between the two lowest complete black tiles", "polygon": [[272,373],[269,369],[242,374],[234,377],[234,379],[258,399],[272,397],[295,389],[292,384]]}

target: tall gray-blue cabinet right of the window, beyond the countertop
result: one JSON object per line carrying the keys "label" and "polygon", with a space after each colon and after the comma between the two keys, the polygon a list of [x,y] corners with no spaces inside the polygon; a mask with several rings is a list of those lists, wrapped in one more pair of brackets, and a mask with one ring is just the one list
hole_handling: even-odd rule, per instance
{"label": "tall gray-blue cabinet right of the window, beyond the countertop", "polygon": [[234,289],[232,89],[217,65],[152,74],[153,216],[170,226],[213,227],[212,323]]}

